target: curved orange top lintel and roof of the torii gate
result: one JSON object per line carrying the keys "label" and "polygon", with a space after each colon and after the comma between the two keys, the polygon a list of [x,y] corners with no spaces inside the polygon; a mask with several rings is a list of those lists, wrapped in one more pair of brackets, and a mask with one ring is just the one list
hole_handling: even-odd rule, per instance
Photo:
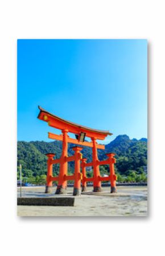
{"label": "curved orange top lintel and roof of the torii gate", "polygon": [[87,137],[96,137],[98,140],[104,140],[106,136],[112,135],[109,131],[102,131],[98,129],[92,129],[85,127],[84,125],[76,124],[71,121],[62,119],[59,116],[55,116],[52,113],[46,111],[42,107],[38,106],[40,109],[38,119],[47,121],[48,125],[57,129],[68,129],[68,132],[79,134],[80,132],[85,132]]}

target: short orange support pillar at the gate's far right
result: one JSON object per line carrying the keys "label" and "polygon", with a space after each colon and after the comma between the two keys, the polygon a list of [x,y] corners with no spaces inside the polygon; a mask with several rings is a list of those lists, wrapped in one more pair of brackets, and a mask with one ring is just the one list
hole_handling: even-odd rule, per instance
{"label": "short orange support pillar at the gate's far right", "polygon": [[113,158],[115,153],[108,153],[106,156],[109,157],[110,193],[116,193],[116,174],[114,173],[114,164],[116,163],[116,159]]}

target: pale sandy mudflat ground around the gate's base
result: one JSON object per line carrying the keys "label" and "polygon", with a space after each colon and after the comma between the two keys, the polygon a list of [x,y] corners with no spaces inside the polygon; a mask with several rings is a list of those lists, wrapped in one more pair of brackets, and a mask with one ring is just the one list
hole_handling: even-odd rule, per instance
{"label": "pale sandy mudflat ground around the gate's base", "polygon": [[[18,216],[147,216],[147,186],[119,186],[117,193],[110,194],[110,188],[102,188],[101,193],[88,192],[75,197],[75,206],[17,206]],[[23,197],[61,197],[44,194],[44,187],[23,187]],[[72,197],[73,188],[67,189]],[[19,188],[18,188],[19,197]]]}

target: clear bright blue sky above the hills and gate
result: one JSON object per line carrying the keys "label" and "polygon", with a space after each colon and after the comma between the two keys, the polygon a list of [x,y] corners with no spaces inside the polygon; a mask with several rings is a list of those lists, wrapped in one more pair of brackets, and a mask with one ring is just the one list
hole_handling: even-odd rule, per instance
{"label": "clear bright blue sky above the hills and gate", "polygon": [[51,141],[38,105],[105,143],[147,137],[147,40],[18,40],[18,140]]}

